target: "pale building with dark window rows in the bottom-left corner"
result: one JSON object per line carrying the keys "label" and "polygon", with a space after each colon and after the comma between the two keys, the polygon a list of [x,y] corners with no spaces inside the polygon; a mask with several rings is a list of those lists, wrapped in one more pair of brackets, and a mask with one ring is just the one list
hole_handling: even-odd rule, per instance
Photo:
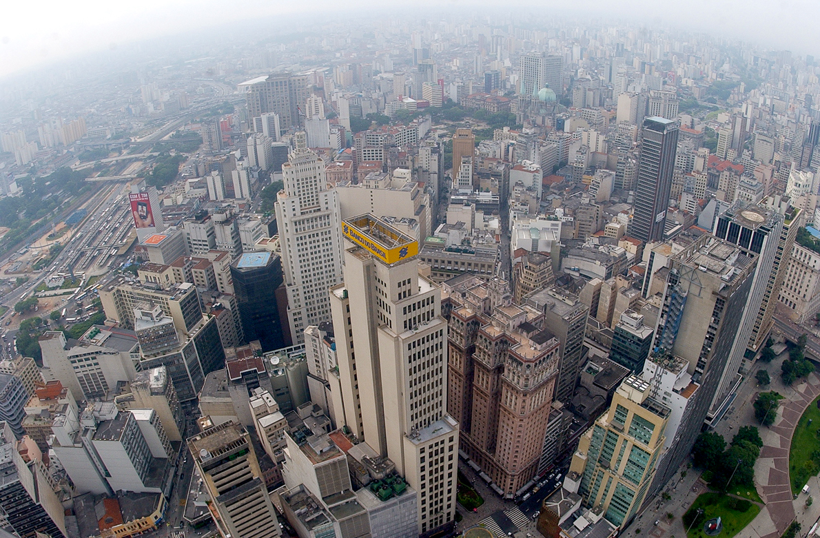
{"label": "pale building with dark window rows in the bottom-left corner", "polygon": [[[48,484],[43,468],[27,466],[17,452],[17,440],[6,422],[0,422],[0,513],[3,529],[20,538],[66,538],[66,516]],[[11,527],[11,528],[9,528]]]}

